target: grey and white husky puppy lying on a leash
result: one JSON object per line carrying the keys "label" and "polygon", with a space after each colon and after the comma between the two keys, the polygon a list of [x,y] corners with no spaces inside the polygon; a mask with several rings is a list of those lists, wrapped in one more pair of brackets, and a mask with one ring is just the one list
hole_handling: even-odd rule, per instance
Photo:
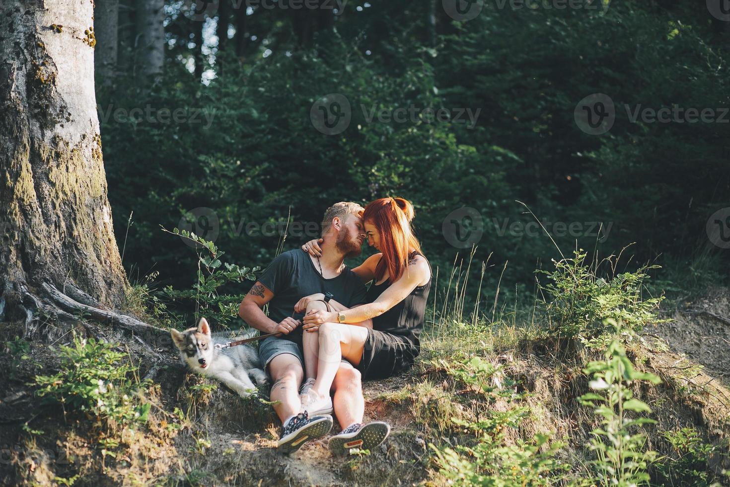
{"label": "grey and white husky puppy lying on a leash", "polygon": [[200,318],[197,328],[185,331],[170,330],[170,335],[180,350],[183,364],[187,364],[196,374],[220,380],[241,397],[250,396],[251,391],[256,388],[249,375],[256,383],[267,382],[266,373],[261,369],[261,361],[255,348],[238,345],[218,350],[215,348],[216,343],[223,345],[238,339],[213,337],[205,318]]}

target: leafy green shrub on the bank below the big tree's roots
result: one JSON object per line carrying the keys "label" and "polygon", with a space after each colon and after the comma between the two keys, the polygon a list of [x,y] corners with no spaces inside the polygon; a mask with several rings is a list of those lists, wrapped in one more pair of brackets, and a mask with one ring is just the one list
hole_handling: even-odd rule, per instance
{"label": "leafy green shrub on the bank below the big tree's roots", "polygon": [[61,370],[54,375],[37,375],[34,383],[45,402],[61,404],[69,411],[91,413],[116,423],[145,423],[150,403],[140,403],[136,368],[118,343],[82,339],[74,334],[72,346],[61,346]]}

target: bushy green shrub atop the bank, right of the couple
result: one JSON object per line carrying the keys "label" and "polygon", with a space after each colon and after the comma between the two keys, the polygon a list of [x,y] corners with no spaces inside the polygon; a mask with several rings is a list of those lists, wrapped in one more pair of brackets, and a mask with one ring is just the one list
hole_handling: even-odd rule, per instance
{"label": "bushy green shrub atop the bank, right of the couple", "polygon": [[[586,253],[575,251],[574,258],[555,262],[548,275],[551,283],[540,285],[542,291],[552,297],[545,301],[550,318],[550,331],[561,337],[575,338],[589,348],[604,348],[612,340],[612,326],[604,318],[612,318],[623,324],[622,333],[638,334],[648,323],[661,323],[653,310],[664,296],[642,299],[647,271],[658,266],[642,266],[637,272],[615,274],[612,279],[598,277],[591,266],[585,264]],[[615,269],[616,261],[605,259]]]}

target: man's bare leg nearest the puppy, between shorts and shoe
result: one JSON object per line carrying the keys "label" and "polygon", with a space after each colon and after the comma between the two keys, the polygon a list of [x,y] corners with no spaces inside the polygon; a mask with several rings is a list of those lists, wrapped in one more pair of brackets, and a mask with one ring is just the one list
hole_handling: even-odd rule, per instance
{"label": "man's bare leg nearest the puppy, between shorts and shoe", "polygon": [[299,358],[291,353],[282,353],[269,362],[269,374],[274,383],[269,397],[274,402],[274,411],[284,423],[288,418],[299,414],[299,384],[304,371]]}

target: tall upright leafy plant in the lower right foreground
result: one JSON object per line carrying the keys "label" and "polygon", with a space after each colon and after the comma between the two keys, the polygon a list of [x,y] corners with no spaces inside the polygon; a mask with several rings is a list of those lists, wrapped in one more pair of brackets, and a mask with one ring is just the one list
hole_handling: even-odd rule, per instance
{"label": "tall upright leafy plant in the lower right foreground", "polygon": [[[618,329],[611,319],[607,319],[605,324]],[[618,339],[611,342],[604,361],[592,361],[583,372],[593,376],[589,386],[600,393],[583,394],[578,400],[581,404],[594,407],[595,413],[603,418],[602,427],[591,432],[591,450],[598,455],[598,459],[592,463],[602,484],[635,486],[648,483],[647,467],[656,460],[657,453],[643,449],[645,436],[635,433],[634,429],[656,421],[640,415],[629,417],[629,411],[637,415],[651,413],[645,402],[634,398],[629,385],[635,380],[646,380],[653,384],[661,380],[656,375],[637,372]]]}

